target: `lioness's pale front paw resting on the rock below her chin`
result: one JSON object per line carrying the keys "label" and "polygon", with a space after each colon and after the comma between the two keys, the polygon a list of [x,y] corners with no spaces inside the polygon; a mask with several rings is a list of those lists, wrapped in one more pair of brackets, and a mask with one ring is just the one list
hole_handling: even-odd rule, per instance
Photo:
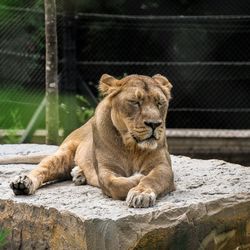
{"label": "lioness's pale front paw resting on the rock below her chin", "polygon": [[134,187],[129,190],[126,202],[129,207],[151,207],[155,204],[156,194],[151,189],[140,190]]}

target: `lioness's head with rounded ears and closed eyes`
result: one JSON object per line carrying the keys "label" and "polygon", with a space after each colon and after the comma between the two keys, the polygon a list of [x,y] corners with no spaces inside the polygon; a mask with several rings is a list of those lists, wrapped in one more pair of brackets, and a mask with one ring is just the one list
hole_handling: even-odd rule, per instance
{"label": "lioness's head with rounded ears and closed eyes", "polygon": [[154,150],[165,140],[165,119],[172,85],[162,75],[104,74],[100,92],[109,98],[111,119],[128,147]]}

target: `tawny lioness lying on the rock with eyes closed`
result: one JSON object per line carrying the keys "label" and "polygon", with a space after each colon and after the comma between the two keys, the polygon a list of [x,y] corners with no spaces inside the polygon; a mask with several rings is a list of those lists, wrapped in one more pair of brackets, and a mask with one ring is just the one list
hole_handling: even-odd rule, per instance
{"label": "tawny lioness lying on the rock with eyes closed", "polygon": [[16,195],[33,194],[46,182],[72,175],[76,185],[100,187],[129,207],[153,206],[158,195],[174,190],[165,134],[171,88],[159,74],[121,80],[104,74],[99,84],[104,99],[95,115],[10,187]]}

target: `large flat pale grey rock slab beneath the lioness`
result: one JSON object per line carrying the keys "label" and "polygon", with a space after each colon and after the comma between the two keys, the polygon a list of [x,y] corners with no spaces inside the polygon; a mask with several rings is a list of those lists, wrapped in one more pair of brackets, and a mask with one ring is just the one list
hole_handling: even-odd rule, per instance
{"label": "large flat pale grey rock slab beneath the lioness", "polygon": [[[0,157],[55,149],[0,145]],[[10,179],[34,166],[0,166],[0,230],[10,230],[5,249],[250,249],[250,168],[181,156],[172,161],[177,190],[145,209],[70,181],[15,197]]]}

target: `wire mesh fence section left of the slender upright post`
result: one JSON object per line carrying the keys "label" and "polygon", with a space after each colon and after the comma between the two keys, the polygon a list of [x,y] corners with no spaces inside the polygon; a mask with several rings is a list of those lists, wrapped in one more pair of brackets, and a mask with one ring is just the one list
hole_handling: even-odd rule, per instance
{"label": "wire mesh fence section left of the slender upright post", "polygon": [[25,128],[44,96],[42,6],[0,3],[0,129]]}

